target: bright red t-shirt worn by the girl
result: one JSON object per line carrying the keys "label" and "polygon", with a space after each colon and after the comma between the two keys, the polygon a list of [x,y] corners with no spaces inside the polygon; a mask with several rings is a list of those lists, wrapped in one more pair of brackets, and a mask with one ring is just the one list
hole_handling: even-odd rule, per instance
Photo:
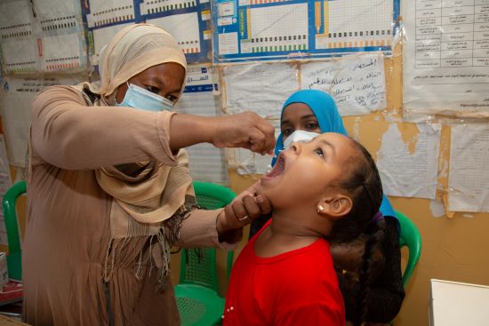
{"label": "bright red t-shirt worn by the girl", "polygon": [[254,243],[244,246],[229,280],[224,325],[345,324],[345,308],[325,239],[307,247],[261,258]]}

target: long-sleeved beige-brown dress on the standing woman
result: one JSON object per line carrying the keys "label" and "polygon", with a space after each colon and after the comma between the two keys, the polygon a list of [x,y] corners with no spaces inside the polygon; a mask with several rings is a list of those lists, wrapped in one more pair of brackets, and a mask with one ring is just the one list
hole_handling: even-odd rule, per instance
{"label": "long-sleeved beige-brown dress on the standing woman", "polygon": [[[135,262],[148,242],[126,243],[104,286],[112,197],[94,171],[150,159],[175,165],[168,145],[172,113],[85,106],[82,93],[66,86],[44,91],[33,106],[24,319],[35,325],[108,325],[112,311],[115,325],[178,325],[170,280],[167,290],[156,292],[157,273],[135,277]],[[193,211],[182,222],[178,244],[219,245],[216,217],[217,211]]]}

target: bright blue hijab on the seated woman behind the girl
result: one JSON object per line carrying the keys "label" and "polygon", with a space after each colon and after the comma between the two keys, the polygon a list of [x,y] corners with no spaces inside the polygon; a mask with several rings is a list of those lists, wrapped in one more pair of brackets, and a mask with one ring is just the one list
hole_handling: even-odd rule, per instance
{"label": "bright blue hijab on the seated woman behind the girl", "polygon": [[[341,115],[338,112],[338,107],[336,107],[334,99],[327,92],[317,90],[301,90],[294,92],[285,101],[284,106],[282,107],[280,120],[282,120],[282,115],[284,115],[285,107],[292,103],[303,103],[310,107],[314,115],[316,115],[321,132],[337,132],[345,136],[349,135],[343,125]],[[275,165],[277,156],[282,150],[284,150],[284,137],[282,136],[282,132],[280,132],[275,146],[275,155],[272,159],[272,166]],[[386,195],[384,195],[382,199],[381,209],[379,211],[381,211],[383,216],[396,218],[394,209],[389,203],[389,199]]]}

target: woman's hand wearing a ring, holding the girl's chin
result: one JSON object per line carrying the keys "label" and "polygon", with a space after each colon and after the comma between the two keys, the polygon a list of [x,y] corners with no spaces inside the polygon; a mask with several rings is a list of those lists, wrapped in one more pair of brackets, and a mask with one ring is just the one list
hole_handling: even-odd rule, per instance
{"label": "woman's hand wearing a ring, holding the girl's chin", "polygon": [[243,236],[244,226],[271,211],[269,199],[253,193],[253,187],[254,185],[236,196],[232,203],[220,211],[217,219],[220,242],[236,243]]}

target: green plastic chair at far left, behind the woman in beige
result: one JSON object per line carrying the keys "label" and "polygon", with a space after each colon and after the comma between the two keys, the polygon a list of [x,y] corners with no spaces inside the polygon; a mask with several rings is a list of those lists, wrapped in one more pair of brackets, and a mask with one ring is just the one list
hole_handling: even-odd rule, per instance
{"label": "green plastic chair at far left, behind the woman in beige", "polygon": [[19,181],[7,190],[3,200],[4,221],[9,243],[7,269],[9,271],[9,278],[19,281],[22,279],[22,252],[20,251],[16,203],[20,195],[26,192],[26,181]]}

